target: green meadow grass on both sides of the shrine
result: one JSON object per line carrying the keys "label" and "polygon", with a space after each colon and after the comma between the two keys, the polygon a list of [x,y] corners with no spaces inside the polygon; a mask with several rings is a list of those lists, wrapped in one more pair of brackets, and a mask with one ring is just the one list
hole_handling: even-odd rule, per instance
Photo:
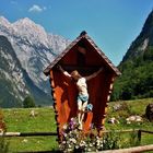
{"label": "green meadow grass on both sides of the shrine", "polygon": [[[113,102],[108,105],[107,118],[105,121],[106,129],[144,129],[153,131],[153,122],[144,119],[142,123],[126,123],[126,117],[130,115],[143,116],[148,104],[153,103],[153,98],[128,101],[128,102]],[[114,106],[123,104],[123,109],[114,111]],[[37,114],[31,117],[32,109]],[[3,109],[4,121],[7,123],[7,131],[9,132],[56,132],[55,111],[51,107],[43,108],[12,108]],[[109,125],[108,118],[116,117],[120,123]],[[127,136],[123,136],[122,142],[126,143]],[[9,142],[9,152],[32,152],[32,151],[52,151],[58,150],[56,137],[24,137],[24,138],[7,138]],[[153,134],[142,134],[141,144],[152,144]]]}

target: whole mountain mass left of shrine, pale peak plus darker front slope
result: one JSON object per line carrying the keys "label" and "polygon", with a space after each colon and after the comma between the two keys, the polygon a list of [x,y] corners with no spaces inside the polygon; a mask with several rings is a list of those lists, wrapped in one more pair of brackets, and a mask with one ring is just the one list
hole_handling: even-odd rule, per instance
{"label": "whole mountain mass left of shrine, pale peak plus darker front slope", "polygon": [[[10,23],[1,16],[0,89],[5,86],[5,90],[0,90],[0,106],[15,107],[15,102],[21,105],[28,94],[34,96],[36,104],[50,105],[49,81],[43,70],[69,43],[62,36],[46,33],[43,26],[27,17]],[[23,92],[17,90],[19,86]],[[7,98],[10,94],[12,98]]]}

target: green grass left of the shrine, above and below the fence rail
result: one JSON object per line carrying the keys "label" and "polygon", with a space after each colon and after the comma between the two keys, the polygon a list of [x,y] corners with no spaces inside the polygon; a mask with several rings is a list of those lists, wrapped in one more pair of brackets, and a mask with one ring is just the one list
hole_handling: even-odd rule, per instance
{"label": "green grass left of the shrine, above and below the fence rail", "polygon": [[[34,110],[37,115],[30,116]],[[8,132],[56,132],[52,108],[3,109]],[[50,151],[58,149],[56,137],[8,138],[9,152]],[[16,145],[19,144],[19,145]]]}

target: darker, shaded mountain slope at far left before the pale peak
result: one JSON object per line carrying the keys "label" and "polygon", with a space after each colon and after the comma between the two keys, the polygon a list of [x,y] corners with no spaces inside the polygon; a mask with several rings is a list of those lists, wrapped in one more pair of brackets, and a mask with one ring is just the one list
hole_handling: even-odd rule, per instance
{"label": "darker, shaded mountain slope at far left before the pale peak", "polygon": [[8,38],[0,36],[0,106],[22,107],[26,95],[33,95],[36,104],[51,99],[33,83]]}

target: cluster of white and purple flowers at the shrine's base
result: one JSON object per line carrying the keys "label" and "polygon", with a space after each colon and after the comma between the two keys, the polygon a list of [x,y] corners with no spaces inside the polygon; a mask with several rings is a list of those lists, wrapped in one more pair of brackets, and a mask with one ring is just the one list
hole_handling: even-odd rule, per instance
{"label": "cluster of white and purple flowers at the shrine's base", "polygon": [[87,151],[95,152],[103,149],[103,140],[97,136],[96,129],[91,127],[91,133],[84,136],[82,131],[78,129],[79,122],[76,118],[71,118],[70,122],[63,125],[61,132],[62,142],[60,149],[62,152],[73,152],[73,151]]}

